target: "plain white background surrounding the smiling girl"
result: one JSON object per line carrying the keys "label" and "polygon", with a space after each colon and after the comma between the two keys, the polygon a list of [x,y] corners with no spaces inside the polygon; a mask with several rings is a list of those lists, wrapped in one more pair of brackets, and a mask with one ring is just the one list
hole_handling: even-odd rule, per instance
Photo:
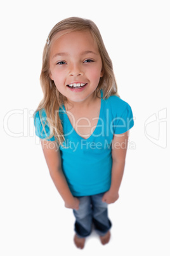
{"label": "plain white background surrounding the smiling girl", "polygon": [[[169,13],[165,0],[1,4],[2,256],[170,255]],[[84,250],[72,241],[74,216],[49,176],[32,119],[42,99],[46,38],[57,22],[72,16],[89,18],[100,29],[119,94],[135,118],[120,198],[108,206],[112,239],[102,246],[93,233]]]}

